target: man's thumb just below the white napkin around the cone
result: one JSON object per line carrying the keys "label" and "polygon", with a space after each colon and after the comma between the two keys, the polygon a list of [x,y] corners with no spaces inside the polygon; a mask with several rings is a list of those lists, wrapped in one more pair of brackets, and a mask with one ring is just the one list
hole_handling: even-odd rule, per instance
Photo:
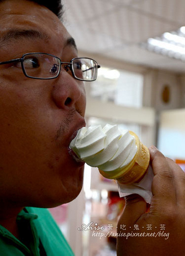
{"label": "man's thumb just below the white napkin around the cone", "polygon": [[140,219],[140,217],[146,213],[147,204],[145,200],[137,195],[132,194],[125,197],[125,207],[123,213],[118,222],[118,228],[124,224],[127,227],[134,227],[134,224]]}

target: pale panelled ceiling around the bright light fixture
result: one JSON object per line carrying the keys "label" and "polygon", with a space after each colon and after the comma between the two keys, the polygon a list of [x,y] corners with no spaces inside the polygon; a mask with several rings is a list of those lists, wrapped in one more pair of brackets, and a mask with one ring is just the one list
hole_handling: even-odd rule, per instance
{"label": "pale panelled ceiling around the bright light fixture", "polygon": [[[90,54],[184,73],[185,62],[142,49],[149,37],[185,25],[185,0],[62,0],[64,24]],[[185,37],[184,37],[185,40]]]}

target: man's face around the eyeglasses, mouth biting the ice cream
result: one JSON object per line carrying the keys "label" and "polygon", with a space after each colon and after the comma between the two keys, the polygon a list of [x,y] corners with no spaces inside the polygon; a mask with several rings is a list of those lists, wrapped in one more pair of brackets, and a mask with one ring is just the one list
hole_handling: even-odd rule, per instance
{"label": "man's face around the eyeglasses, mouth biting the ice cream", "polygon": [[[45,7],[23,0],[0,4],[0,62],[31,52],[69,62],[77,57],[70,38]],[[69,143],[85,126],[85,104],[83,82],[62,67],[58,78],[38,80],[25,77],[20,65],[0,65],[1,197],[53,207],[80,193],[84,166],[69,154]]]}

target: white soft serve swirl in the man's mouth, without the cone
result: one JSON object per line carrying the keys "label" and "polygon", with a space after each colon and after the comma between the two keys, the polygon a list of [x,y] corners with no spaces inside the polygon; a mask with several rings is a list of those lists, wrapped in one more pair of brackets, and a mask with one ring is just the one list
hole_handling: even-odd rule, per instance
{"label": "white soft serve swirl in the man's mouth, without the cone", "polygon": [[88,165],[109,172],[126,166],[136,155],[135,138],[117,125],[83,127],[71,141],[72,151]]}

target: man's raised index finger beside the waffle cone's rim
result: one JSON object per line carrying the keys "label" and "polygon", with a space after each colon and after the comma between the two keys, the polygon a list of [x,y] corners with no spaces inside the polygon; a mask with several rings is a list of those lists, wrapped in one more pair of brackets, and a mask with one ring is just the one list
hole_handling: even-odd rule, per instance
{"label": "man's raised index finger beside the waffle cone's rim", "polygon": [[161,204],[176,201],[176,188],[174,183],[174,173],[167,158],[157,150],[156,147],[149,147],[151,164],[154,178],[152,182],[152,194],[154,198],[163,198]]}

